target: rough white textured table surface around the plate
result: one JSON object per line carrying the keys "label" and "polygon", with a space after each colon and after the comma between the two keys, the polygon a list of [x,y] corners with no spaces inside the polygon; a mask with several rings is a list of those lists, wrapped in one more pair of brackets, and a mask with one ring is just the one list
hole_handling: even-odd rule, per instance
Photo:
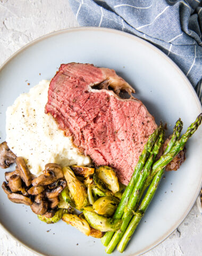
{"label": "rough white textured table surface around the plate", "polygon": [[[78,22],[67,0],[0,0],[0,65],[33,39],[70,27]],[[202,216],[195,205],[179,228],[145,256],[202,255],[201,237]],[[0,228],[0,255],[36,254]]]}

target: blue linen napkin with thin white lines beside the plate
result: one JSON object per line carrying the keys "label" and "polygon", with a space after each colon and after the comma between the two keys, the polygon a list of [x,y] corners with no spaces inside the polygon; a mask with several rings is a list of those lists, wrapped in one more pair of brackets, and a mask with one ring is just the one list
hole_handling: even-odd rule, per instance
{"label": "blue linen napkin with thin white lines beside the plate", "polygon": [[114,28],[139,36],[167,54],[202,103],[202,1],[69,0],[81,26]]}

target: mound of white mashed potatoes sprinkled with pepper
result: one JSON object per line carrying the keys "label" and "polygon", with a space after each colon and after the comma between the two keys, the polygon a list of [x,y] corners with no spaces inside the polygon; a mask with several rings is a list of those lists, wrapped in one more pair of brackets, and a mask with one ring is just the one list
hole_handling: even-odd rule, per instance
{"label": "mound of white mashed potatoes sprinkled with pepper", "polygon": [[88,165],[71,137],[58,130],[51,115],[44,113],[49,81],[43,80],[29,93],[21,94],[6,111],[6,142],[16,156],[27,161],[31,173],[39,175],[47,163]]}

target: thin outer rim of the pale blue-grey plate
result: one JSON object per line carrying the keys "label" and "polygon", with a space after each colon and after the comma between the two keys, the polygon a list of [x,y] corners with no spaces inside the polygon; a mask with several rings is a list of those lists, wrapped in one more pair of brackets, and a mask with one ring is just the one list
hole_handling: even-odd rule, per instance
{"label": "thin outer rim of the pale blue-grey plate", "polygon": [[[74,27],[74,28],[65,28],[65,29],[57,30],[57,31],[54,31],[52,33],[48,33],[46,35],[40,36],[40,37],[34,39],[33,41],[29,42],[28,44],[22,46],[18,51],[14,52],[9,58],[7,58],[3,62],[3,64],[0,66],[0,72],[18,54],[20,54],[21,52],[23,52],[27,48],[31,47],[32,45],[34,45],[34,44],[36,44],[36,43],[38,43],[40,41],[43,41],[44,39],[47,39],[49,37],[55,36],[55,35],[71,33],[71,32],[76,32],[76,31],[80,31],[80,30],[81,31],[104,31],[104,32],[107,32],[107,33],[112,33],[112,34],[120,34],[120,35],[122,35],[124,37],[129,37],[129,38],[133,39],[134,41],[139,41],[140,43],[145,44],[147,47],[149,47],[153,51],[157,52],[157,54],[160,54],[167,62],[169,62],[171,64],[171,66],[174,67],[174,69],[178,72],[178,74],[183,78],[184,83],[186,83],[188,89],[190,90],[190,92],[192,93],[193,97],[195,98],[195,101],[197,103],[197,107],[198,107],[200,113],[202,112],[202,106],[201,106],[201,103],[199,101],[199,98],[197,96],[196,91],[193,89],[193,86],[191,85],[191,83],[188,80],[187,76],[183,73],[183,71],[178,67],[178,65],[176,65],[176,63],[173,60],[171,60],[163,51],[159,50],[156,46],[154,46],[152,43],[149,43],[145,39],[140,38],[140,37],[138,37],[136,35],[129,34],[129,33],[125,32],[125,31],[111,29],[111,28],[102,28],[102,27]],[[193,196],[193,199],[192,199],[191,203],[187,207],[187,210],[184,212],[182,217],[178,221],[175,222],[175,224],[169,229],[169,231],[166,232],[166,234],[162,238],[158,239],[152,245],[145,247],[144,250],[140,250],[140,251],[138,251],[136,253],[130,254],[130,256],[142,255],[142,254],[144,254],[144,253],[154,249],[157,245],[159,245],[163,241],[165,241],[165,239],[167,237],[169,237],[175,231],[175,229],[177,227],[180,226],[180,224],[183,222],[183,220],[187,217],[187,215],[191,211],[192,206],[196,202],[196,199],[198,197],[198,194],[199,194],[201,186],[202,186],[202,175],[201,175],[200,185],[199,185],[199,187],[197,189],[197,193]],[[5,231],[6,234],[9,234],[13,239],[18,241],[20,244],[22,244],[22,246],[26,247],[26,249],[28,249],[29,251],[34,252],[34,253],[36,253],[36,254],[38,254],[40,256],[49,256],[48,254],[44,254],[44,253],[41,253],[39,251],[36,251],[36,249],[33,249],[32,246],[29,246],[26,243],[22,242],[21,239],[19,239],[18,237],[15,237],[12,234],[11,231],[9,231],[6,227],[4,227],[4,225],[1,222],[0,222],[0,226]]]}

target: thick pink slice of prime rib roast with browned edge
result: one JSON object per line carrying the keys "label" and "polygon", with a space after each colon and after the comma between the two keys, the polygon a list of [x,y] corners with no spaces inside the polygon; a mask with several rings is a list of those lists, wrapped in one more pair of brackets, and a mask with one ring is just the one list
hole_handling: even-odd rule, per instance
{"label": "thick pink slice of prime rib roast with browned edge", "polygon": [[[96,85],[101,90],[93,89]],[[112,69],[62,64],[49,85],[45,111],[75,146],[95,164],[114,167],[127,185],[157,125],[140,100],[121,99],[120,91],[134,92]]]}

